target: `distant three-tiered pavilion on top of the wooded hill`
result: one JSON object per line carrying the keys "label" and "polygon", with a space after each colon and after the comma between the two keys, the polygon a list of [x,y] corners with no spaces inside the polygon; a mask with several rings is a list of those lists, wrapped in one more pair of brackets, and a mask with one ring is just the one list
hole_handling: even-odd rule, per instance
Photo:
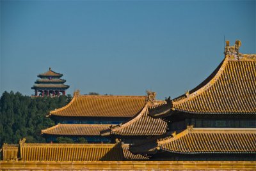
{"label": "distant three-tiered pavilion on top of the wooded hill", "polygon": [[31,89],[35,90],[35,96],[60,96],[60,93],[65,95],[69,85],[64,84],[66,80],[61,79],[62,76],[62,73],[56,73],[49,68],[49,71],[37,75],[39,79]]}

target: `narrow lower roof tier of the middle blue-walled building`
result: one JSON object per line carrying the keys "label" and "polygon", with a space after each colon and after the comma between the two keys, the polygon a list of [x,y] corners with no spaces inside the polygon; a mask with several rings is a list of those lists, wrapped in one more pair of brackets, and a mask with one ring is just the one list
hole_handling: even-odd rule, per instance
{"label": "narrow lower roof tier of the middle blue-walled building", "polygon": [[100,135],[100,131],[107,130],[111,124],[57,124],[42,130],[47,135]]}

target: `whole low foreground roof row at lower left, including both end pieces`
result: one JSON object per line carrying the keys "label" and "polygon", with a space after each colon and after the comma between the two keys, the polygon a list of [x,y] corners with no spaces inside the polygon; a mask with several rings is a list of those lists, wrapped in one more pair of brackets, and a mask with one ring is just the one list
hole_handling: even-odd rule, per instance
{"label": "whole low foreground roof row at lower left, including both end pieces", "polygon": [[132,154],[128,144],[4,144],[3,160],[22,161],[104,161],[148,160],[147,156]]}

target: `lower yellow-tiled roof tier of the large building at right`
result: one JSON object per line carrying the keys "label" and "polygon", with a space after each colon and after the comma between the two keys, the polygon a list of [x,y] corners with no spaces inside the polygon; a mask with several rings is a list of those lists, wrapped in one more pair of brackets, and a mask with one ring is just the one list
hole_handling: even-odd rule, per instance
{"label": "lower yellow-tiled roof tier of the large building at right", "polygon": [[188,128],[179,134],[133,147],[141,153],[159,150],[179,154],[256,154],[256,128]]}

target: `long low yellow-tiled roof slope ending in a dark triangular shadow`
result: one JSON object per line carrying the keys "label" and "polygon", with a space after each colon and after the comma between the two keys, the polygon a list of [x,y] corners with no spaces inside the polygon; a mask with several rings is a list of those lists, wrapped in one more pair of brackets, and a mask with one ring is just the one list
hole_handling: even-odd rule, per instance
{"label": "long low yellow-tiled roof slope ending in a dark triangular shadow", "polygon": [[123,160],[120,144],[26,144],[20,143],[24,161]]}

